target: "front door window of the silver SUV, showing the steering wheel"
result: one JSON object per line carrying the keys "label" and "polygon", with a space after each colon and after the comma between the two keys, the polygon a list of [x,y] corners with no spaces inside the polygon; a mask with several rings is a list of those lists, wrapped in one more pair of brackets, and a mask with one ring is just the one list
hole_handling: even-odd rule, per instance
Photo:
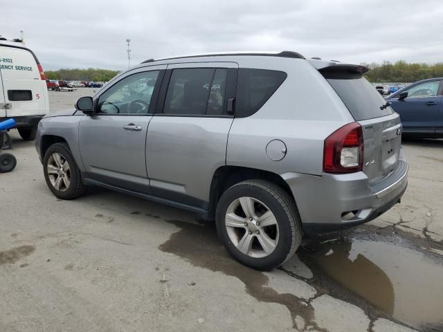
{"label": "front door window of the silver SUV, showing the steering wheel", "polygon": [[125,77],[98,98],[98,113],[147,114],[159,71]]}

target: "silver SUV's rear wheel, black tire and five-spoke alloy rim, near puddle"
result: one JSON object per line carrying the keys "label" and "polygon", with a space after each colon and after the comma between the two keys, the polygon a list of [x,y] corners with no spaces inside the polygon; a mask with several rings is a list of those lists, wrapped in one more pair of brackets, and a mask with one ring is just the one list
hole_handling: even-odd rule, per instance
{"label": "silver SUV's rear wheel, black tire and five-spoke alloy rim, near puddle", "polygon": [[[248,214],[244,212],[243,208],[242,202],[244,200],[248,202],[249,199],[253,202],[253,218],[248,218]],[[237,202],[239,205],[235,208]],[[271,226],[257,223],[260,220],[263,224],[269,222],[259,216],[259,210],[266,211],[266,209],[273,214],[273,225]],[[268,211],[266,211],[266,215],[270,216]],[[235,216],[235,227],[226,225],[227,213]],[[245,219],[242,219],[243,216]],[[302,226],[296,203],[282,187],[269,181],[247,180],[230,187],[221,195],[215,218],[219,238],[230,255],[240,263],[257,270],[278,268],[292,257],[302,239]],[[244,230],[242,230],[241,223],[244,224]],[[276,234],[274,238],[271,233]],[[250,241],[251,246],[246,248],[247,253],[245,254],[237,246],[240,246],[246,237],[255,239]],[[271,239],[271,241],[263,242],[264,239]],[[262,243],[273,244],[269,247],[267,244],[262,246]],[[264,249],[265,247],[269,247],[267,251]]]}

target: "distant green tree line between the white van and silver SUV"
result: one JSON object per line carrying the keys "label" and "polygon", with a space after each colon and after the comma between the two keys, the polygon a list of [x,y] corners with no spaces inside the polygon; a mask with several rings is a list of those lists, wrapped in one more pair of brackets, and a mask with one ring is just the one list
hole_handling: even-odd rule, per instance
{"label": "distant green tree line between the white van and silver SUV", "polygon": [[117,75],[119,71],[109,69],[87,68],[87,69],[59,69],[58,71],[45,71],[47,80],[66,80],[66,81],[93,81],[107,82]]}

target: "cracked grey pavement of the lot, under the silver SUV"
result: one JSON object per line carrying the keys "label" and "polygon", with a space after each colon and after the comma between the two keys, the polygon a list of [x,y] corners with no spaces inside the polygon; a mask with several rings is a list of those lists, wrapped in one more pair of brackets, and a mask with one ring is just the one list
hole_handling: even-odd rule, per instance
{"label": "cracked grey pavement of the lot, under the silver SUV", "polygon": [[[51,112],[93,90],[49,91]],[[57,199],[34,143],[11,135],[0,331],[443,331],[443,140],[404,142],[401,204],[261,273],[190,212],[93,187]]]}

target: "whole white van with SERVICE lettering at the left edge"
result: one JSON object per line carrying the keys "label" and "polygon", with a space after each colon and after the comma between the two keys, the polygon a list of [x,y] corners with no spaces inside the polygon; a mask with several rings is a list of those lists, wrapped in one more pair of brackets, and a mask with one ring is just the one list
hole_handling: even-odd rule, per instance
{"label": "whole white van with SERVICE lettering at the left edge", "polygon": [[14,118],[24,140],[34,140],[49,111],[44,71],[29,48],[0,44],[0,122]]}

